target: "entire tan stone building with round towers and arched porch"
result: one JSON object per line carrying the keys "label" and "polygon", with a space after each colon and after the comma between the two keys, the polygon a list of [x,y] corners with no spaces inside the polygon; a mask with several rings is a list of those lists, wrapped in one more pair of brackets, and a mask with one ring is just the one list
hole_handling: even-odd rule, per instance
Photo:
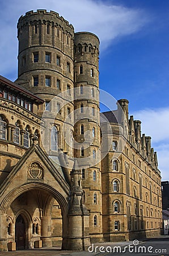
{"label": "entire tan stone building with round towers and arched porch", "polygon": [[18,79],[0,76],[0,250],[158,235],[157,154],[127,100],[100,114],[98,37],[37,10],[18,40]]}

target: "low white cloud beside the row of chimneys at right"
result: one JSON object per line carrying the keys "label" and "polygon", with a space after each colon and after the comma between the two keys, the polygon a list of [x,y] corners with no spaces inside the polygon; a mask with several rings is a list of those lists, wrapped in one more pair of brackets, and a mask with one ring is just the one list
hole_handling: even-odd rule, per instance
{"label": "low white cloud beside the row of chimneys at right", "polygon": [[145,109],[133,114],[134,119],[142,122],[142,133],[151,137],[151,146],[157,151],[162,180],[169,180],[169,108]]}

